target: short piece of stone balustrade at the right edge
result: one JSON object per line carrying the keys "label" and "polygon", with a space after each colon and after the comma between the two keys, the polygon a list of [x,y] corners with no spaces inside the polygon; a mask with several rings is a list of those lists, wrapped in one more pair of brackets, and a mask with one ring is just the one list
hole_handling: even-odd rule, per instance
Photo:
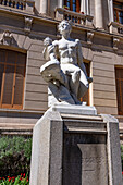
{"label": "short piece of stone balustrade at the right edge", "polygon": [[119,22],[111,22],[109,24],[109,32],[112,34],[123,34],[123,24]]}

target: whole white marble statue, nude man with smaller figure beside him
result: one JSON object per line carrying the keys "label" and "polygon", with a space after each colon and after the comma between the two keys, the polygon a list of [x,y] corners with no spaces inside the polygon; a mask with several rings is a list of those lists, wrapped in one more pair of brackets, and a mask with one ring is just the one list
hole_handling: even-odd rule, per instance
{"label": "whole white marble statue, nude man with smaller figure beside him", "polygon": [[48,61],[40,67],[44,79],[58,102],[82,104],[82,98],[91,83],[83,63],[78,39],[70,38],[72,22],[63,20],[59,26],[60,40],[44,40],[44,58]]}

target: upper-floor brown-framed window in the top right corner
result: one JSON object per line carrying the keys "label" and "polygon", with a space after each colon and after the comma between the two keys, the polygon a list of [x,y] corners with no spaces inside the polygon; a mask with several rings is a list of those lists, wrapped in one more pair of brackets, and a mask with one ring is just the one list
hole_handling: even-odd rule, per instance
{"label": "upper-floor brown-framed window in the top right corner", "polygon": [[123,2],[113,1],[114,21],[123,24]]}

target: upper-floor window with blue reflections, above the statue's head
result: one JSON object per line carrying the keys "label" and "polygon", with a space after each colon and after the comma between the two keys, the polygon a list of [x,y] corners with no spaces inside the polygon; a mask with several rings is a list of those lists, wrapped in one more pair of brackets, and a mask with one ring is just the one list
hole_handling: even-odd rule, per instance
{"label": "upper-floor window with blue reflections, above the statue's head", "polygon": [[66,5],[71,11],[79,12],[81,1],[79,0],[64,0],[64,5]]}

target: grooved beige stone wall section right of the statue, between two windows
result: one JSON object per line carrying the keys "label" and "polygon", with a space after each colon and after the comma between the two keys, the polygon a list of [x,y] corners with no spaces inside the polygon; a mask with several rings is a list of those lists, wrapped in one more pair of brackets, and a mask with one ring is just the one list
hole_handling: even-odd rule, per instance
{"label": "grooved beige stone wall section right of the statue, between two windows", "polygon": [[113,60],[108,52],[94,54],[94,104],[99,113],[118,114]]}

